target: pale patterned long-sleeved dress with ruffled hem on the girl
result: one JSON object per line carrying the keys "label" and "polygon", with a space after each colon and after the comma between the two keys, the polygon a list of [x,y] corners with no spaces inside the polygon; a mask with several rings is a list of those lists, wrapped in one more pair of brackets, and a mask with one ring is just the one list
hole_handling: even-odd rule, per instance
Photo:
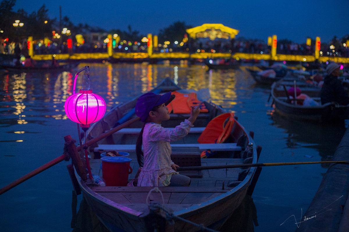
{"label": "pale patterned long-sleeved dress with ruffled hem on the girl", "polygon": [[172,148],[170,142],[186,136],[194,125],[187,119],[174,129],[148,122],[143,130],[144,165],[138,176],[137,186],[168,186],[172,175]]}

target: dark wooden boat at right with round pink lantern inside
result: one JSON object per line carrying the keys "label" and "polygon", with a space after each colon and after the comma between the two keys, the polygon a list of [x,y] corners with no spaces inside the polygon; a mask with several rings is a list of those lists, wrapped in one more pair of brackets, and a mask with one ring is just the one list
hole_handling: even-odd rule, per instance
{"label": "dark wooden boat at right with round pink lantern inside", "polygon": [[[297,120],[308,120],[314,122],[325,122],[331,111],[336,107],[334,103],[326,103],[321,105],[320,88],[310,83],[296,82],[296,86],[300,88],[302,94],[311,97],[318,105],[305,106],[296,104],[293,99],[290,99],[287,89],[294,86],[294,81],[281,79],[272,85],[271,96],[275,105],[275,113]],[[304,99],[296,99],[303,102]]]}

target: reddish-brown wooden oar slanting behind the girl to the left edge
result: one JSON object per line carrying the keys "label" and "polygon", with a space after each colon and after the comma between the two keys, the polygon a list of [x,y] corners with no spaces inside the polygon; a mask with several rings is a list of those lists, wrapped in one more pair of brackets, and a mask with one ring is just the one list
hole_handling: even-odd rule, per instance
{"label": "reddish-brown wooden oar slanting behind the girl to the left edge", "polygon": [[[111,129],[111,130],[109,130],[109,131],[103,133],[102,135],[99,135],[98,137],[91,139],[90,141],[88,141],[88,142],[86,143],[86,145],[88,146],[88,145],[91,145],[91,144],[93,144],[93,143],[96,143],[96,142],[98,142],[99,140],[101,140],[101,139],[103,139],[103,138],[105,138],[105,137],[107,137],[107,136],[109,136],[109,135],[111,135],[111,134],[117,132],[118,130],[121,130],[122,128],[124,128],[124,127],[130,125],[131,123],[133,123],[133,122],[135,122],[135,121],[138,121],[138,120],[139,120],[139,117],[136,117],[136,118],[133,118],[133,119],[131,119],[131,120],[128,120],[127,122],[122,123],[120,126],[117,126],[117,127],[113,128],[113,129]],[[77,147],[77,150],[78,150],[78,151],[81,150],[81,149],[80,149],[80,146]],[[35,169],[34,171],[31,171],[31,172],[28,173],[27,175],[24,175],[24,176],[22,176],[21,178],[17,179],[16,181],[14,181],[14,182],[12,182],[12,183],[6,185],[5,187],[1,188],[1,189],[0,189],[0,195],[1,195],[2,193],[7,192],[8,190],[12,189],[13,187],[17,186],[18,184],[20,184],[20,183],[26,181],[27,179],[29,179],[29,178],[31,178],[31,177],[33,177],[33,176],[35,176],[35,175],[41,173],[42,171],[44,171],[44,170],[46,170],[46,169],[48,169],[48,168],[50,168],[50,167],[56,165],[57,163],[59,163],[59,162],[65,160],[65,159],[66,159],[66,160],[69,160],[69,158],[70,158],[70,157],[69,157],[68,154],[62,154],[61,156],[55,158],[54,160],[51,160],[50,162],[46,163],[45,165],[43,165],[43,166],[41,166],[41,167]]]}

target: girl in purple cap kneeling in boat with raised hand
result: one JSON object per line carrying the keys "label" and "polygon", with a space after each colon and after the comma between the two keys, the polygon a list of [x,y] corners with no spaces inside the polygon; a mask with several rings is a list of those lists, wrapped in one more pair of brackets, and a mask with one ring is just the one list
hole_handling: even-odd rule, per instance
{"label": "girl in purple cap kneeling in boat with raised hand", "polygon": [[[168,105],[174,96],[171,92],[164,95],[143,94],[136,103],[136,115],[144,122],[136,142],[139,166],[137,186],[189,186],[190,178],[176,172],[178,165],[170,158],[170,142],[177,141],[188,134],[200,113],[200,105],[192,107],[190,117],[174,129],[166,129],[161,122],[170,119]],[[143,152],[142,147],[143,145]]]}

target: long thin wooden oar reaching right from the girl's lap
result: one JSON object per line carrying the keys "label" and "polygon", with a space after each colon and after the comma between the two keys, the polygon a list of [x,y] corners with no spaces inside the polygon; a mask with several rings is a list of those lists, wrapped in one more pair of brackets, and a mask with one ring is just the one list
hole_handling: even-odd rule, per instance
{"label": "long thin wooden oar reaching right from the girl's lap", "polygon": [[289,163],[246,163],[246,164],[235,164],[235,165],[194,166],[194,167],[178,167],[177,171],[221,169],[221,168],[249,168],[249,167],[299,165],[299,164],[313,164],[313,163],[348,163],[349,164],[349,161],[318,161],[318,162],[289,162]]}

